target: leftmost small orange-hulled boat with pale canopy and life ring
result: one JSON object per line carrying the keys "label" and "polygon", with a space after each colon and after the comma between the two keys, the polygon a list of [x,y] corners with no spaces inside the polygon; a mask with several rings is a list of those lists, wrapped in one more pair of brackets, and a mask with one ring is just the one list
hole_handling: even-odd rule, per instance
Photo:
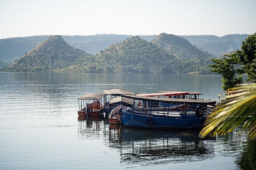
{"label": "leftmost small orange-hulled boat with pale canopy and life ring", "polygon": [[103,96],[101,93],[89,93],[78,98],[78,116],[104,116]]}

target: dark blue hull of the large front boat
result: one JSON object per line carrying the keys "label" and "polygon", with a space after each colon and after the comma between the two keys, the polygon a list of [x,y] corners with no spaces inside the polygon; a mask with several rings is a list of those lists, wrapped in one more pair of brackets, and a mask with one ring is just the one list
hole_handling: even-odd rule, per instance
{"label": "dark blue hull of the large front boat", "polygon": [[182,115],[182,117],[167,117],[131,113],[122,110],[121,123],[126,127],[147,127],[147,128],[202,128],[204,118],[197,118],[196,115]]}

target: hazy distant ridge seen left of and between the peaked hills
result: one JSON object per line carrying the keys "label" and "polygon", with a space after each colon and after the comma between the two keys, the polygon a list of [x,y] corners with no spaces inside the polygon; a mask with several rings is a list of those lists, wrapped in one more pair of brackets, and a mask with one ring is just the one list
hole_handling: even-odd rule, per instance
{"label": "hazy distant ridge seen left of and between the peaked hills", "polygon": [[[0,68],[5,65],[12,64],[16,59],[19,59],[25,53],[35,48],[38,44],[46,40],[50,35],[32,36],[32,37],[18,37],[7,38],[0,40]],[[131,35],[117,35],[117,34],[100,34],[90,36],[62,36],[68,45],[71,45],[80,50],[84,50],[89,54],[99,53],[111,44],[118,43]],[[141,35],[147,41],[151,41],[156,35]]]}

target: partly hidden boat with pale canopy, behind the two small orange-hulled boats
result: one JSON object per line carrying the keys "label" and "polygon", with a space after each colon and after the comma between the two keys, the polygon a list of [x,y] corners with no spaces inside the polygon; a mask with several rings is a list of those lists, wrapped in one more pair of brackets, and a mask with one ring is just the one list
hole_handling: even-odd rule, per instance
{"label": "partly hidden boat with pale canopy, behind the two small orange-hulled boats", "polygon": [[114,107],[111,108],[109,105],[109,102],[112,98],[118,97],[120,95],[134,95],[131,91],[116,89],[116,88],[103,90],[103,94],[104,94],[104,110],[105,110],[106,116],[108,116],[110,114],[110,111],[114,108]]}

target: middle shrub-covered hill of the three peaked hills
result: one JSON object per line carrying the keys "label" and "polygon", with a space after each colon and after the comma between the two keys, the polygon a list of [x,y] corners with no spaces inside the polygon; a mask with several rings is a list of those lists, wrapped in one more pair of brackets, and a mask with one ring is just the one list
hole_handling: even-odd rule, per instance
{"label": "middle shrub-covered hill of the three peaked hills", "polygon": [[174,57],[164,49],[134,36],[102,50],[78,71],[171,73],[174,65]]}

